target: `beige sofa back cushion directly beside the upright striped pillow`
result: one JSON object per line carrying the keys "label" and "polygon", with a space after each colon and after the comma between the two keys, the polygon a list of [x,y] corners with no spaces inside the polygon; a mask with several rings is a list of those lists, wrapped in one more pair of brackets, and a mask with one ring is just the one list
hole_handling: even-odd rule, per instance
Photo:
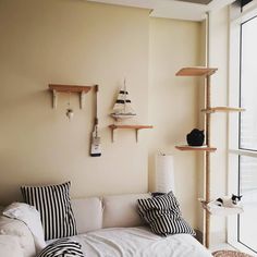
{"label": "beige sofa back cushion directly beside the upright striped pillow", "polygon": [[98,197],[72,199],[78,234],[102,228],[102,204]]}

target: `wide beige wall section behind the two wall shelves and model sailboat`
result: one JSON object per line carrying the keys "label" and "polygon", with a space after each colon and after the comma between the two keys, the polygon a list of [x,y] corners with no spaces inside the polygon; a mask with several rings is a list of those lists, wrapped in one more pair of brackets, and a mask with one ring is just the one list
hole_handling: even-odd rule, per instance
{"label": "wide beige wall section behind the two wall shelves and model sailboat", "polygon": [[[72,195],[146,192],[147,137],[118,132],[108,113],[126,76],[138,122],[148,122],[148,11],[78,0],[0,1],[0,203],[21,184],[72,181]],[[100,85],[102,157],[88,156],[93,93],[51,108],[49,83]],[[135,121],[137,122],[137,121]]]}

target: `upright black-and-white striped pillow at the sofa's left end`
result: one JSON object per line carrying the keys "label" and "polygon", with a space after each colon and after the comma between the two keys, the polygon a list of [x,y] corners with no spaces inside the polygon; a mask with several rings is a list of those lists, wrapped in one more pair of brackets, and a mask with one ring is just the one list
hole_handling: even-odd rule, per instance
{"label": "upright black-and-white striped pillow at the sofa's left end", "polygon": [[35,206],[40,213],[45,240],[77,234],[71,207],[71,182],[60,185],[22,186],[24,201]]}

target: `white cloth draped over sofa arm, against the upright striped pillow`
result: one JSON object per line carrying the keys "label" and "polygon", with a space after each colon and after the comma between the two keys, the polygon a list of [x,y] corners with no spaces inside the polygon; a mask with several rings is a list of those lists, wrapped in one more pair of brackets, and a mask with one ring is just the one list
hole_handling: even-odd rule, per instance
{"label": "white cloth draped over sofa arm, against the upright striped pillow", "polygon": [[13,203],[2,213],[9,218],[21,220],[28,227],[34,236],[37,252],[46,247],[40,215],[34,206],[24,203]]}

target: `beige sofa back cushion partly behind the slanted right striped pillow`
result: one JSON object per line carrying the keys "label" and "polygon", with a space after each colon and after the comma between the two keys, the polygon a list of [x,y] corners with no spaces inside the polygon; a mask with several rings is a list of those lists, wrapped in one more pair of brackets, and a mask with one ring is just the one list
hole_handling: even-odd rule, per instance
{"label": "beige sofa back cushion partly behind the slanted right striped pillow", "polygon": [[130,194],[102,197],[103,228],[137,227],[145,222],[137,211],[137,199],[149,198],[149,194]]}

